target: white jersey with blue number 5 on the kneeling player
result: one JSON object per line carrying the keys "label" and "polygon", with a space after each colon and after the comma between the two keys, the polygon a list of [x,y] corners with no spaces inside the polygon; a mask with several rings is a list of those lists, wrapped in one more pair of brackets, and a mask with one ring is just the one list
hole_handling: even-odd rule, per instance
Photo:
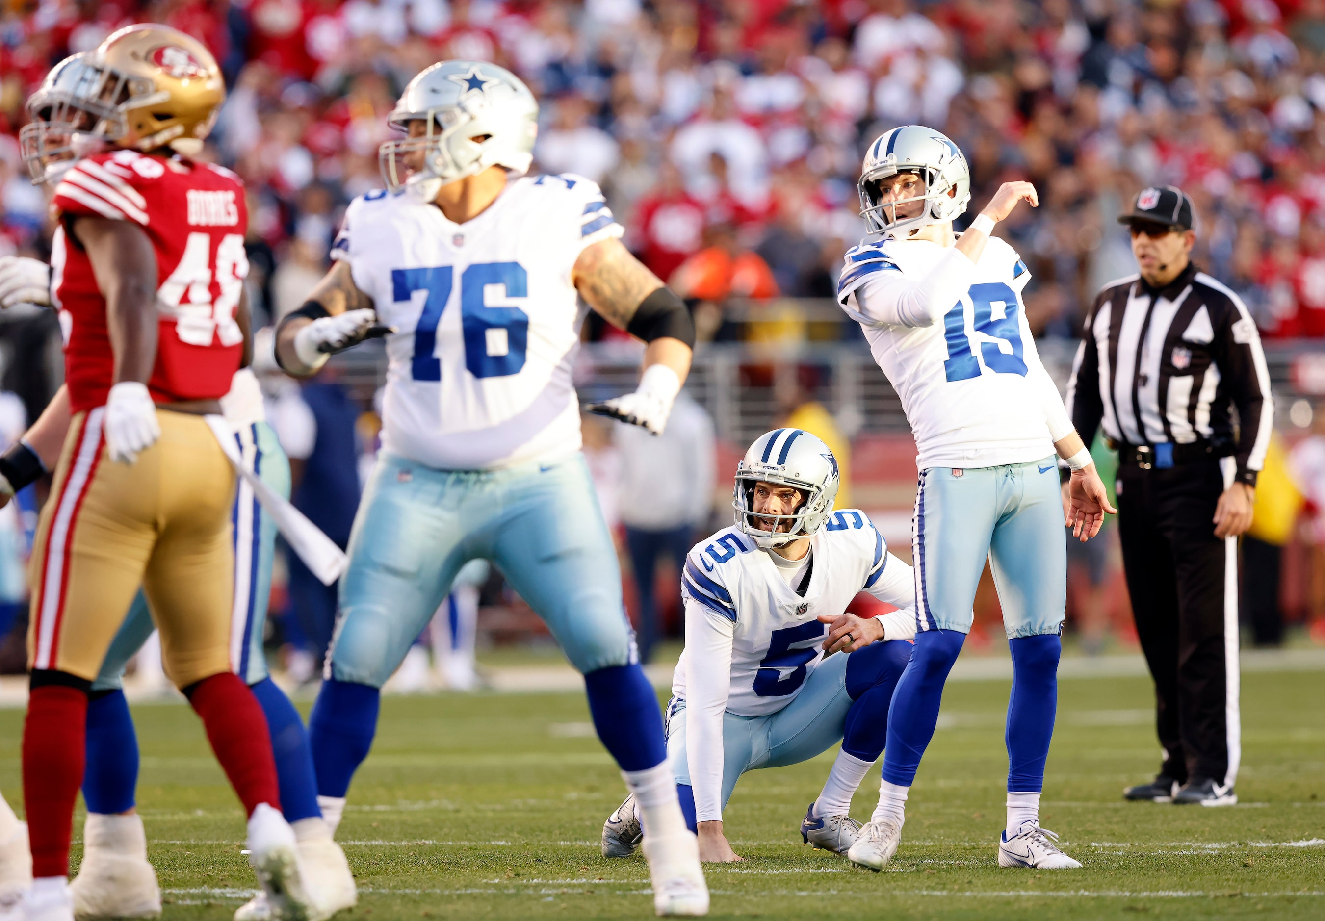
{"label": "white jersey with blue number 5 on the kneeling player", "polygon": [[[731,622],[731,676],[727,713],[761,717],[776,713],[800,693],[823,660],[828,624],[820,614],[840,615],[860,591],[898,608],[914,608],[910,567],[888,553],[882,535],[859,509],[829,515],[810,538],[808,584],[798,594],[767,551],[737,527],[726,527],[690,550],[681,595],[708,614]],[[892,570],[896,570],[893,572]],[[884,578],[896,575],[897,578]],[[686,604],[686,616],[692,604]],[[901,620],[901,618],[898,618]],[[914,612],[905,616],[914,623]],[[722,623],[721,620],[716,623]],[[672,694],[685,698],[686,657],[681,652]]]}

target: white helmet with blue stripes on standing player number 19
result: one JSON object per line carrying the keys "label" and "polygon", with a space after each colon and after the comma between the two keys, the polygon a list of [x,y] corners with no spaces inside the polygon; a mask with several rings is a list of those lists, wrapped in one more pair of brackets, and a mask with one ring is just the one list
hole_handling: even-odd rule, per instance
{"label": "white helmet with blue stripes on standing player number 19", "polygon": [[[884,201],[878,183],[898,172],[914,172],[925,180],[925,195]],[[946,224],[971,200],[971,170],[966,158],[939,131],[922,125],[904,125],[885,131],[869,146],[860,167],[860,216],[871,233],[905,240],[926,224]],[[955,195],[949,195],[950,190]],[[914,217],[898,217],[897,205],[924,201]]]}

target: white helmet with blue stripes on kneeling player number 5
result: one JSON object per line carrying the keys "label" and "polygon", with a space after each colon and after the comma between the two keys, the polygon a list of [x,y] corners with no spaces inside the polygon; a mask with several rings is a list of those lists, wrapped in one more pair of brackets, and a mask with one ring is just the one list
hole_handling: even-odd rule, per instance
{"label": "white helmet with blue stripes on kneeling player number 5", "polygon": [[[737,484],[731,492],[735,523],[754,542],[768,550],[803,537],[810,537],[828,519],[841,476],[837,459],[823,441],[799,428],[779,428],[761,435],[737,465]],[[754,513],[754,486],[771,482],[791,486],[804,494],[804,501],[790,515]],[[761,527],[774,519],[772,530]],[[780,530],[782,522],[791,527]]]}

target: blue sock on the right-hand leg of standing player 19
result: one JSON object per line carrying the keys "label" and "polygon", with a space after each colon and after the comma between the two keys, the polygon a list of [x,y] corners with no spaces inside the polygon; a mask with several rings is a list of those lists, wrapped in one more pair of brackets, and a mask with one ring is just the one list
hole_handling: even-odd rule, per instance
{"label": "blue sock on the right-hand leg of standing player 19", "polygon": [[1007,702],[1007,791],[1040,792],[1059,709],[1063,640],[1055,633],[1020,636],[1010,640],[1008,648],[1012,697]]}

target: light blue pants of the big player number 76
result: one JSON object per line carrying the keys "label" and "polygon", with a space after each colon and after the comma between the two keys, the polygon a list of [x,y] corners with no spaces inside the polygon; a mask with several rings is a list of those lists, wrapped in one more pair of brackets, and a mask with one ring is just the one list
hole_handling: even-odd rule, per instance
{"label": "light blue pants of the big player number 76", "polygon": [[350,534],[329,677],[380,688],[470,559],[488,559],[583,673],[636,661],[584,456],[436,470],[382,452]]}

